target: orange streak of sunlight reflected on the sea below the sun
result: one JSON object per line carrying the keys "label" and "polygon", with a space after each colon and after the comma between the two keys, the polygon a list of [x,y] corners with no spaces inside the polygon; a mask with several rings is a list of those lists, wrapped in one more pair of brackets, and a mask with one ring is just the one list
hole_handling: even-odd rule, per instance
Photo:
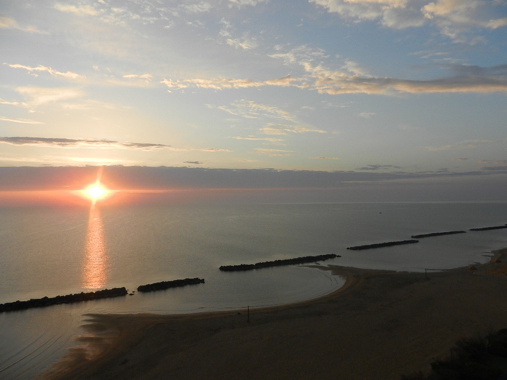
{"label": "orange streak of sunlight reflected on the sea below the sun", "polygon": [[104,244],[102,218],[99,210],[93,206],[90,208],[85,248],[83,288],[95,291],[104,287],[107,281],[107,255]]}

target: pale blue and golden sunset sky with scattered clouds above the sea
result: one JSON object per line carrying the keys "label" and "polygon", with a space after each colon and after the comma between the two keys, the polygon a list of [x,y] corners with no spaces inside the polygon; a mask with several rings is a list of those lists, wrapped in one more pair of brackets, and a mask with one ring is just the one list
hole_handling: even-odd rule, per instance
{"label": "pale blue and golden sunset sky with scattered clouds above the sea", "polygon": [[0,0],[0,41],[0,190],[505,199],[506,0]]}

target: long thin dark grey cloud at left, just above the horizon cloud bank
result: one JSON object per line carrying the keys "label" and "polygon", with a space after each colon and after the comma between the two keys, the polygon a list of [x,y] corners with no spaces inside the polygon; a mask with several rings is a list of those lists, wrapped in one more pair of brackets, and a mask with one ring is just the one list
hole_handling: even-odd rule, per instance
{"label": "long thin dark grey cloud at left, just above the horizon cloud bank", "polygon": [[170,145],[149,144],[138,142],[118,142],[99,139],[68,139],[47,137],[0,137],[0,143],[12,145],[35,145],[60,148],[123,148],[153,150],[169,148]]}

